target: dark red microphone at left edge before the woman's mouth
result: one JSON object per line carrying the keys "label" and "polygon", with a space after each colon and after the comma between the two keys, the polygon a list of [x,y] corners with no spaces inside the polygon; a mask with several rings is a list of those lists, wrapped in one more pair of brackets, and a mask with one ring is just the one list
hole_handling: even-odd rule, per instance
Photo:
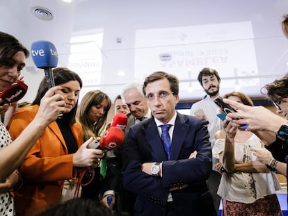
{"label": "dark red microphone at left edge before the woman's mouth", "polygon": [[26,94],[28,86],[22,81],[17,81],[12,83],[6,90],[0,92],[0,98],[3,99],[3,102],[0,103],[0,106],[3,106],[6,103],[13,103],[22,99]]}

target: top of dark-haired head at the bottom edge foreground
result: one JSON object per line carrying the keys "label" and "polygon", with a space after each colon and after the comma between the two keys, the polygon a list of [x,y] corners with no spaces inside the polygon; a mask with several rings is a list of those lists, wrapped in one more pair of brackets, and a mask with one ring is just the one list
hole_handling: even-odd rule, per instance
{"label": "top of dark-haired head at the bottom edge foreground", "polygon": [[75,198],[57,203],[38,216],[112,216],[113,212],[95,199]]}

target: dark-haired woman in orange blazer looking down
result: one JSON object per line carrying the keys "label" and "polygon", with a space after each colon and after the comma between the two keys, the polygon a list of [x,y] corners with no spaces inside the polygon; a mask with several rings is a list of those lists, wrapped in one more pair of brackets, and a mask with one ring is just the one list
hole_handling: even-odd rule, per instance
{"label": "dark-haired woman in orange blazer looking down", "polygon": [[[92,138],[82,144],[81,124],[75,121],[81,78],[64,67],[58,67],[53,72],[55,85],[62,87],[57,93],[65,98],[65,112],[47,126],[19,167],[24,185],[15,194],[17,215],[37,215],[61,201],[64,181],[77,178],[77,167],[95,167],[97,160],[103,156],[102,150],[87,148]],[[47,90],[47,82],[43,78],[33,106],[20,108],[13,115],[9,124],[13,139],[35,117]]]}

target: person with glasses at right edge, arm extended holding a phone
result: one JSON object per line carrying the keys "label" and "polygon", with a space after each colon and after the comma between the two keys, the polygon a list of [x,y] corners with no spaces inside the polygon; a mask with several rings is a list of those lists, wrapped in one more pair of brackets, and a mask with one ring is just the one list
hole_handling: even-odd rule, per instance
{"label": "person with glasses at right edge, arm extended holding a phone", "polygon": [[233,121],[234,126],[248,124],[246,130],[253,131],[259,138],[265,140],[266,149],[269,149],[272,154],[265,149],[253,149],[257,160],[287,176],[288,75],[275,80],[273,83],[266,84],[262,88],[262,92],[263,90],[273,101],[278,115],[262,106],[250,107],[225,99],[225,103],[239,109],[237,110],[238,113],[228,114],[227,119]]}

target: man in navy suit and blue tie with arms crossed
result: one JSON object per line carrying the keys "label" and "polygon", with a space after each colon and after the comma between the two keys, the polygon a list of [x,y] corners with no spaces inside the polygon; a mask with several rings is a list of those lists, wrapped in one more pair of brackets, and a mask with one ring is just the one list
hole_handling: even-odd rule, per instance
{"label": "man in navy suit and blue tie with arms crossed", "polygon": [[176,112],[173,75],[147,76],[143,92],[153,117],[131,126],[124,155],[123,185],[137,194],[134,215],[216,215],[205,183],[212,168],[205,120]]}

